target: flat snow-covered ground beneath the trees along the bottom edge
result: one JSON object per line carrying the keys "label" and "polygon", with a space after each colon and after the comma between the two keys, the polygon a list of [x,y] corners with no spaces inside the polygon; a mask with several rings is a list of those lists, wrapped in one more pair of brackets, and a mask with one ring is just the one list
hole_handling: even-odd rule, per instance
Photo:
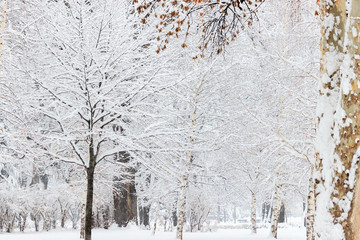
{"label": "flat snow-covered ground beneath the trees along the bottom edge", "polygon": [[[0,233],[0,240],[78,240],[78,231],[50,231],[39,233]],[[139,229],[94,230],[93,240],[172,240],[174,232],[157,232]],[[264,240],[269,237],[269,229],[259,229],[252,235],[248,229],[220,229],[216,232],[185,233],[184,240]],[[304,240],[305,228],[281,228],[279,240]]]}

